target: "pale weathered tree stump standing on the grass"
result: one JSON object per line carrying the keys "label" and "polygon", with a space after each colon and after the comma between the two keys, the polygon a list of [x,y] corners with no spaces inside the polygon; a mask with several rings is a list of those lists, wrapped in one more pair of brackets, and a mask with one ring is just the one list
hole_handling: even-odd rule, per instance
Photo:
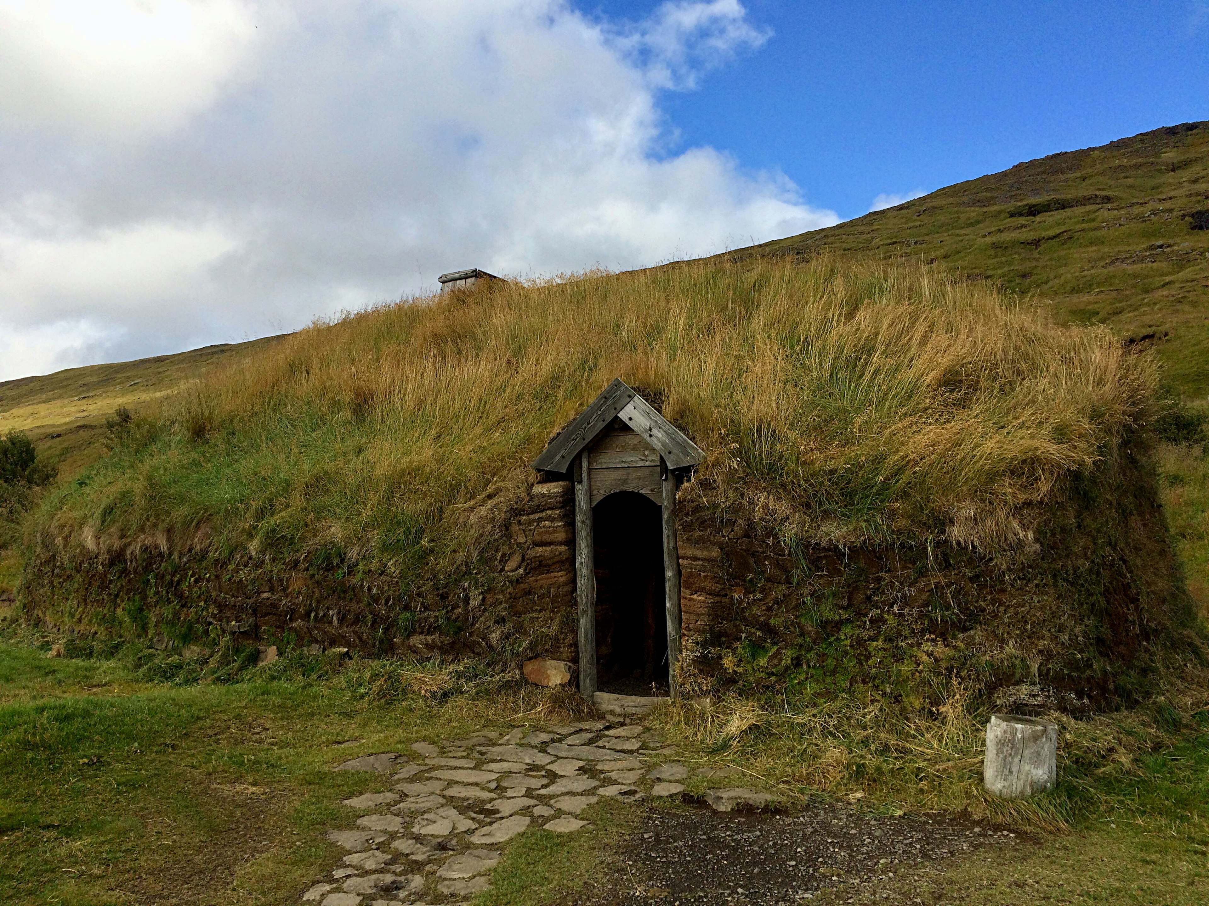
{"label": "pale weathered tree stump standing on the grass", "polygon": [[1058,725],[993,714],[987,725],[983,785],[1000,798],[1028,798],[1058,779]]}

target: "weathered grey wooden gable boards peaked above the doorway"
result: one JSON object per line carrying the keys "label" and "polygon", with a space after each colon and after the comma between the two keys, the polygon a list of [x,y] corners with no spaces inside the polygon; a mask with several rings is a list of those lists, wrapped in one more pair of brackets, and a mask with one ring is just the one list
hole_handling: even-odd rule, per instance
{"label": "weathered grey wooden gable boards peaked above the doorway", "polygon": [[620,378],[604,388],[592,403],[567,425],[533,463],[546,472],[566,472],[579,452],[596,440],[608,423],[620,418],[647,443],[659,451],[669,469],[684,469],[705,459],[693,441],[636,394]]}

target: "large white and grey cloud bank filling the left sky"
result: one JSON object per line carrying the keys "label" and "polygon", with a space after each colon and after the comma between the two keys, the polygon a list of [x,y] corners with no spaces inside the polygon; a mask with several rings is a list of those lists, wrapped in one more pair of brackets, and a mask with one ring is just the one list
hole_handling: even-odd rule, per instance
{"label": "large white and grey cloud bank filling the left sky", "polygon": [[175,94],[135,103],[87,63],[28,80],[59,80],[53,116],[0,108],[0,378],[288,330],[461,267],[640,267],[838,220],[713,149],[659,153],[658,92],[763,40],[734,0],[625,27],[563,0],[181,6],[185,46],[225,50],[178,64],[184,39],[147,39],[138,71]]}

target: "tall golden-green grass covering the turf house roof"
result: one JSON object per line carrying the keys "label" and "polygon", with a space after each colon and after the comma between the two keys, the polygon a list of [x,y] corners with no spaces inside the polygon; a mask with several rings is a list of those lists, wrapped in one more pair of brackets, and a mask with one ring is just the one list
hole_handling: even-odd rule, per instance
{"label": "tall golden-green grass covering the turf house roof", "polygon": [[924,266],[513,283],[316,324],[210,377],[167,410],[178,430],[60,495],[53,521],[93,547],[192,533],[432,554],[614,377],[708,453],[704,486],[786,534],[984,550],[1026,538],[1028,506],[1144,418],[1156,384],[1106,330]]}

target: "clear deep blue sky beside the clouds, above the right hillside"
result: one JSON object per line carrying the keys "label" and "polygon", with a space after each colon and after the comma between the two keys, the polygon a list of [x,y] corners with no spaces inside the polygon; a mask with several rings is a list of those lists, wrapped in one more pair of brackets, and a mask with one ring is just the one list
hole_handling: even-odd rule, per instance
{"label": "clear deep blue sky beside the clouds, above the right hillside", "polygon": [[[642,19],[650,0],[582,1]],[[678,146],[780,168],[841,217],[1020,161],[1209,118],[1209,2],[746,0],[756,50],[660,99]]]}

